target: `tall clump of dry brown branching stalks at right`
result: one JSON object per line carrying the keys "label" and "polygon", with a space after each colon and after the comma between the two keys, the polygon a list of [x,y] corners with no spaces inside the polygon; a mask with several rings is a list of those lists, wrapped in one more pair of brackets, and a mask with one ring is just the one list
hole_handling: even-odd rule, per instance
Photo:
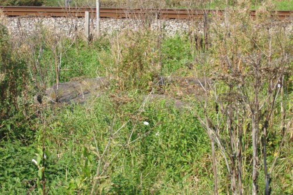
{"label": "tall clump of dry brown branching stalks at right", "polygon": [[[243,166],[246,163],[242,161],[242,146],[246,146],[244,147],[246,149],[249,143],[247,143],[246,139],[243,139],[243,136],[245,136],[243,129],[247,128],[245,131],[249,130],[249,124],[251,123],[252,194],[258,194],[260,191],[258,189],[259,167],[262,165],[258,151],[260,137],[262,137],[263,143],[264,192],[269,194],[270,171],[267,168],[266,139],[268,137],[268,129],[272,129],[270,121],[272,121],[271,119],[276,108],[276,100],[280,98],[280,88],[277,86],[281,87],[280,82],[282,82],[284,75],[288,73],[288,60],[286,57],[288,51],[284,52],[277,49],[286,47],[286,43],[283,40],[278,40],[279,35],[285,37],[286,35],[278,31],[280,28],[277,25],[275,25],[275,34],[270,34],[272,31],[270,27],[267,27],[271,25],[268,22],[270,18],[265,20],[265,24],[262,23],[263,21],[258,20],[261,25],[259,23],[256,25],[256,23],[250,20],[247,13],[247,16],[241,19],[241,23],[246,21],[244,22],[245,28],[238,24],[239,21],[236,18],[235,15],[231,15],[227,7],[224,16],[225,28],[222,26],[221,21],[221,26],[214,30],[216,37],[219,34],[219,39],[213,38],[214,49],[219,52],[218,54],[215,53],[216,58],[219,60],[217,65],[222,65],[222,69],[212,72],[211,75],[216,83],[219,82],[217,86],[224,87],[222,88],[223,92],[221,89],[210,87],[210,89],[214,89],[211,93],[214,96],[214,102],[221,108],[220,115],[217,114],[217,123],[212,120],[214,118],[212,106],[207,105],[207,102],[212,101],[210,99],[211,95],[206,92],[205,103],[202,105],[204,111],[204,117],[202,118],[209,122],[204,122],[199,115],[197,115],[197,118],[207,130],[209,137],[212,133],[212,138],[214,139],[210,138],[211,146],[213,146],[213,140],[216,140],[216,144],[225,159],[232,194],[245,193],[243,191],[242,170],[244,170]],[[264,26],[263,28],[262,25]],[[263,34],[261,34],[265,33],[265,28],[269,29],[267,31],[268,36],[265,36],[267,39],[263,38]],[[239,33],[243,29],[246,31],[243,34]],[[256,37],[249,37],[248,32],[250,30],[257,32],[258,35]],[[242,45],[243,43],[248,44],[244,46]],[[249,46],[250,49],[248,49],[249,43],[251,44]],[[275,49],[272,49],[274,48],[273,43],[278,44]],[[217,48],[215,45],[217,45]],[[281,58],[272,59],[274,55],[281,55]],[[283,100],[281,102],[283,103]],[[281,108],[282,118],[285,115],[283,110],[285,109]],[[285,121],[285,118],[282,121]],[[284,127],[284,122],[281,123],[281,126]],[[210,131],[211,129],[212,131]],[[227,130],[227,135],[224,134],[224,129]],[[227,159],[229,159],[229,162]]]}

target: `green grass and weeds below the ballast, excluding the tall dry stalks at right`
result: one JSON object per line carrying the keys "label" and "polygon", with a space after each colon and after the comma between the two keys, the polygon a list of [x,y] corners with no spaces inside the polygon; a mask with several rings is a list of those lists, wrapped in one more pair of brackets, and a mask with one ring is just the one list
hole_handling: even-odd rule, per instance
{"label": "green grass and weeds below the ballast, excluding the tall dry stalks at right", "polygon": [[[230,28],[243,28],[247,31],[249,28],[253,29],[252,23],[248,22],[254,21],[249,16],[243,17],[244,19],[234,17],[233,20],[245,25],[231,25]],[[258,19],[261,22],[262,18]],[[103,166],[98,169],[104,171],[99,175],[97,185],[97,192],[100,194],[212,194],[214,176],[211,143],[207,131],[196,116],[205,117],[208,114],[211,122],[218,121],[222,108],[210,98],[207,102],[209,112],[204,113],[200,104],[202,94],[190,93],[181,98],[182,101],[188,101],[188,109],[176,107],[170,97],[146,104],[144,98],[147,94],[156,92],[159,75],[202,77],[211,76],[212,73],[231,74],[229,67],[223,65],[223,53],[227,52],[226,56],[233,61],[235,56],[257,53],[255,51],[259,47],[263,51],[268,49],[263,44],[266,43],[267,36],[255,37],[253,42],[249,35],[242,34],[243,29],[231,30],[229,33],[238,33],[235,36],[237,39],[234,39],[234,36],[225,33],[227,28],[221,28],[221,24],[219,23],[219,28],[216,28],[216,24],[215,29],[211,27],[209,33],[218,34],[210,37],[214,42],[207,51],[200,48],[192,51],[195,48],[192,45],[194,42],[190,41],[188,34],[160,39],[160,32],[148,28],[139,31],[126,30],[114,36],[95,39],[89,44],[82,38],[56,38],[47,32],[35,34],[35,37],[21,43],[14,43],[3,28],[5,36],[0,37],[0,43],[9,46],[11,44],[11,49],[0,48],[0,74],[5,76],[7,83],[11,83],[9,81],[13,79],[22,82],[16,87],[3,85],[18,90],[15,94],[17,101],[5,99],[6,105],[15,108],[8,112],[9,115],[0,118],[0,193],[42,194],[42,180],[45,178],[45,191],[48,194],[89,194],[97,175],[100,159],[98,152],[107,151]],[[257,29],[257,33],[261,32],[267,32],[267,29]],[[290,53],[290,44],[287,41],[289,36],[282,33],[280,31],[278,34],[280,39],[275,39],[277,36],[274,35],[271,44],[273,48],[281,48],[278,44],[285,43],[284,50]],[[224,35],[226,39],[223,39]],[[255,46],[256,43],[259,45]],[[7,51],[11,53],[7,55]],[[237,55],[232,55],[233,52]],[[279,57],[277,52],[274,54],[273,59]],[[10,73],[8,70],[11,67],[7,62],[13,63],[14,72],[11,75],[14,77],[7,76],[10,75],[7,73]],[[265,57],[262,62],[266,62]],[[27,73],[24,85],[24,74],[17,74],[23,70],[23,64],[26,65],[23,72]],[[242,68],[238,60],[235,64],[233,65]],[[110,80],[110,89],[83,105],[35,105],[35,94],[56,83],[58,65],[59,82],[103,76]],[[284,65],[287,64],[284,62]],[[249,67],[242,70],[248,71]],[[290,79],[288,72],[285,80]],[[237,88],[227,87],[224,82],[226,80],[223,80],[216,81],[217,86],[210,89],[207,95],[212,97],[219,93],[220,101],[225,102],[225,98],[232,99],[232,102],[238,101],[235,94],[229,91]],[[246,82],[250,82],[249,78]],[[231,84],[231,81],[227,80],[227,83]],[[250,87],[253,84],[247,85],[246,90],[251,97],[254,92]],[[267,86],[264,84],[263,91]],[[179,94],[182,89],[178,88],[176,90]],[[3,89],[9,91],[6,87]],[[172,91],[173,88],[168,90]],[[4,90],[1,94],[3,92]],[[283,96],[287,102],[292,99],[290,85],[284,90]],[[263,98],[263,94],[259,97]],[[284,137],[281,136],[280,128],[281,102],[282,99],[278,97],[267,137],[270,165]],[[1,109],[8,107],[3,105],[0,105]],[[286,103],[286,110],[291,107],[291,104]],[[235,124],[238,122],[233,120]],[[245,122],[242,173],[243,189],[249,193],[252,178],[249,115],[246,115]],[[228,130],[225,122],[219,123],[220,138],[226,144],[229,142]],[[280,156],[271,175],[272,194],[292,194],[293,190],[290,158],[292,149],[288,141],[290,135],[285,134],[285,138],[286,142],[280,149]],[[259,151],[262,147],[259,146]],[[230,193],[227,176],[229,173],[219,148],[216,148],[215,155],[219,177],[218,191],[220,194]],[[263,153],[260,152],[259,158],[262,157]],[[260,189],[265,186],[263,169],[260,162]]]}

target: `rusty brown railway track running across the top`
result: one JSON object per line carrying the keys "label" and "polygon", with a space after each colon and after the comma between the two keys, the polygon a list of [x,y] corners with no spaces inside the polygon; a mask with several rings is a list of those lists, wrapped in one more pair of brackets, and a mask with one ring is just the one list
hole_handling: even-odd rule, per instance
{"label": "rusty brown railway track running across the top", "polygon": [[[0,9],[7,16],[42,16],[42,17],[84,17],[85,11],[89,11],[93,16],[96,14],[95,8],[64,8],[64,7],[38,7],[38,6],[0,6]],[[208,14],[222,15],[222,10],[208,10]],[[292,16],[293,11],[277,11],[272,13],[280,19]],[[251,11],[254,17],[255,11]],[[146,15],[154,15],[158,19],[187,19],[201,17],[204,12],[201,10],[187,9],[162,9],[162,10],[142,10],[142,9],[122,9],[122,8],[101,8],[102,18],[142,18]]]}

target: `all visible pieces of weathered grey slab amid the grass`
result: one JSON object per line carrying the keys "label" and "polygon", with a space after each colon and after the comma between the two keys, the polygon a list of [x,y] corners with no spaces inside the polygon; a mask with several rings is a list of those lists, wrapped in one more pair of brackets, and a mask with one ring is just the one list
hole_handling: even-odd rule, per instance
{"label": "all visible pieces of weathered grey slab amid the grass", "polygon": [[[159,86],[175,84],[186,94],[196,94],[195,89],[202,89],[205,82],[207,85],[212,82],[210,79],[204,80],[194,77],[159,77],[158,81]],[[91,97],[100,96],[108,86],[109,81],[104,77],[59,83],[58,86],[55,84],[48,88],[44,96],[37,96],[36,103],[84,103]],[[174,98],[163,93],[143,95],[142,97],[149,102],[165,100],[167,105],[174,103],[174,106],[179,109],[190,107],[190,103],[182,101],[181,98]]]}

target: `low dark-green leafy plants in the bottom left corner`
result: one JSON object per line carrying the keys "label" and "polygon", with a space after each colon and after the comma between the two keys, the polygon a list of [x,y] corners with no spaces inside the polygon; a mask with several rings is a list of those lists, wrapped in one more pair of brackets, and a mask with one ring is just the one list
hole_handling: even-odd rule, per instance
{"label": "low dark-green leafy plants in the bottom left corner", "polygon": [[0,194],[25,194],[34,189],[38,168],[34,146],[0,142]]}

